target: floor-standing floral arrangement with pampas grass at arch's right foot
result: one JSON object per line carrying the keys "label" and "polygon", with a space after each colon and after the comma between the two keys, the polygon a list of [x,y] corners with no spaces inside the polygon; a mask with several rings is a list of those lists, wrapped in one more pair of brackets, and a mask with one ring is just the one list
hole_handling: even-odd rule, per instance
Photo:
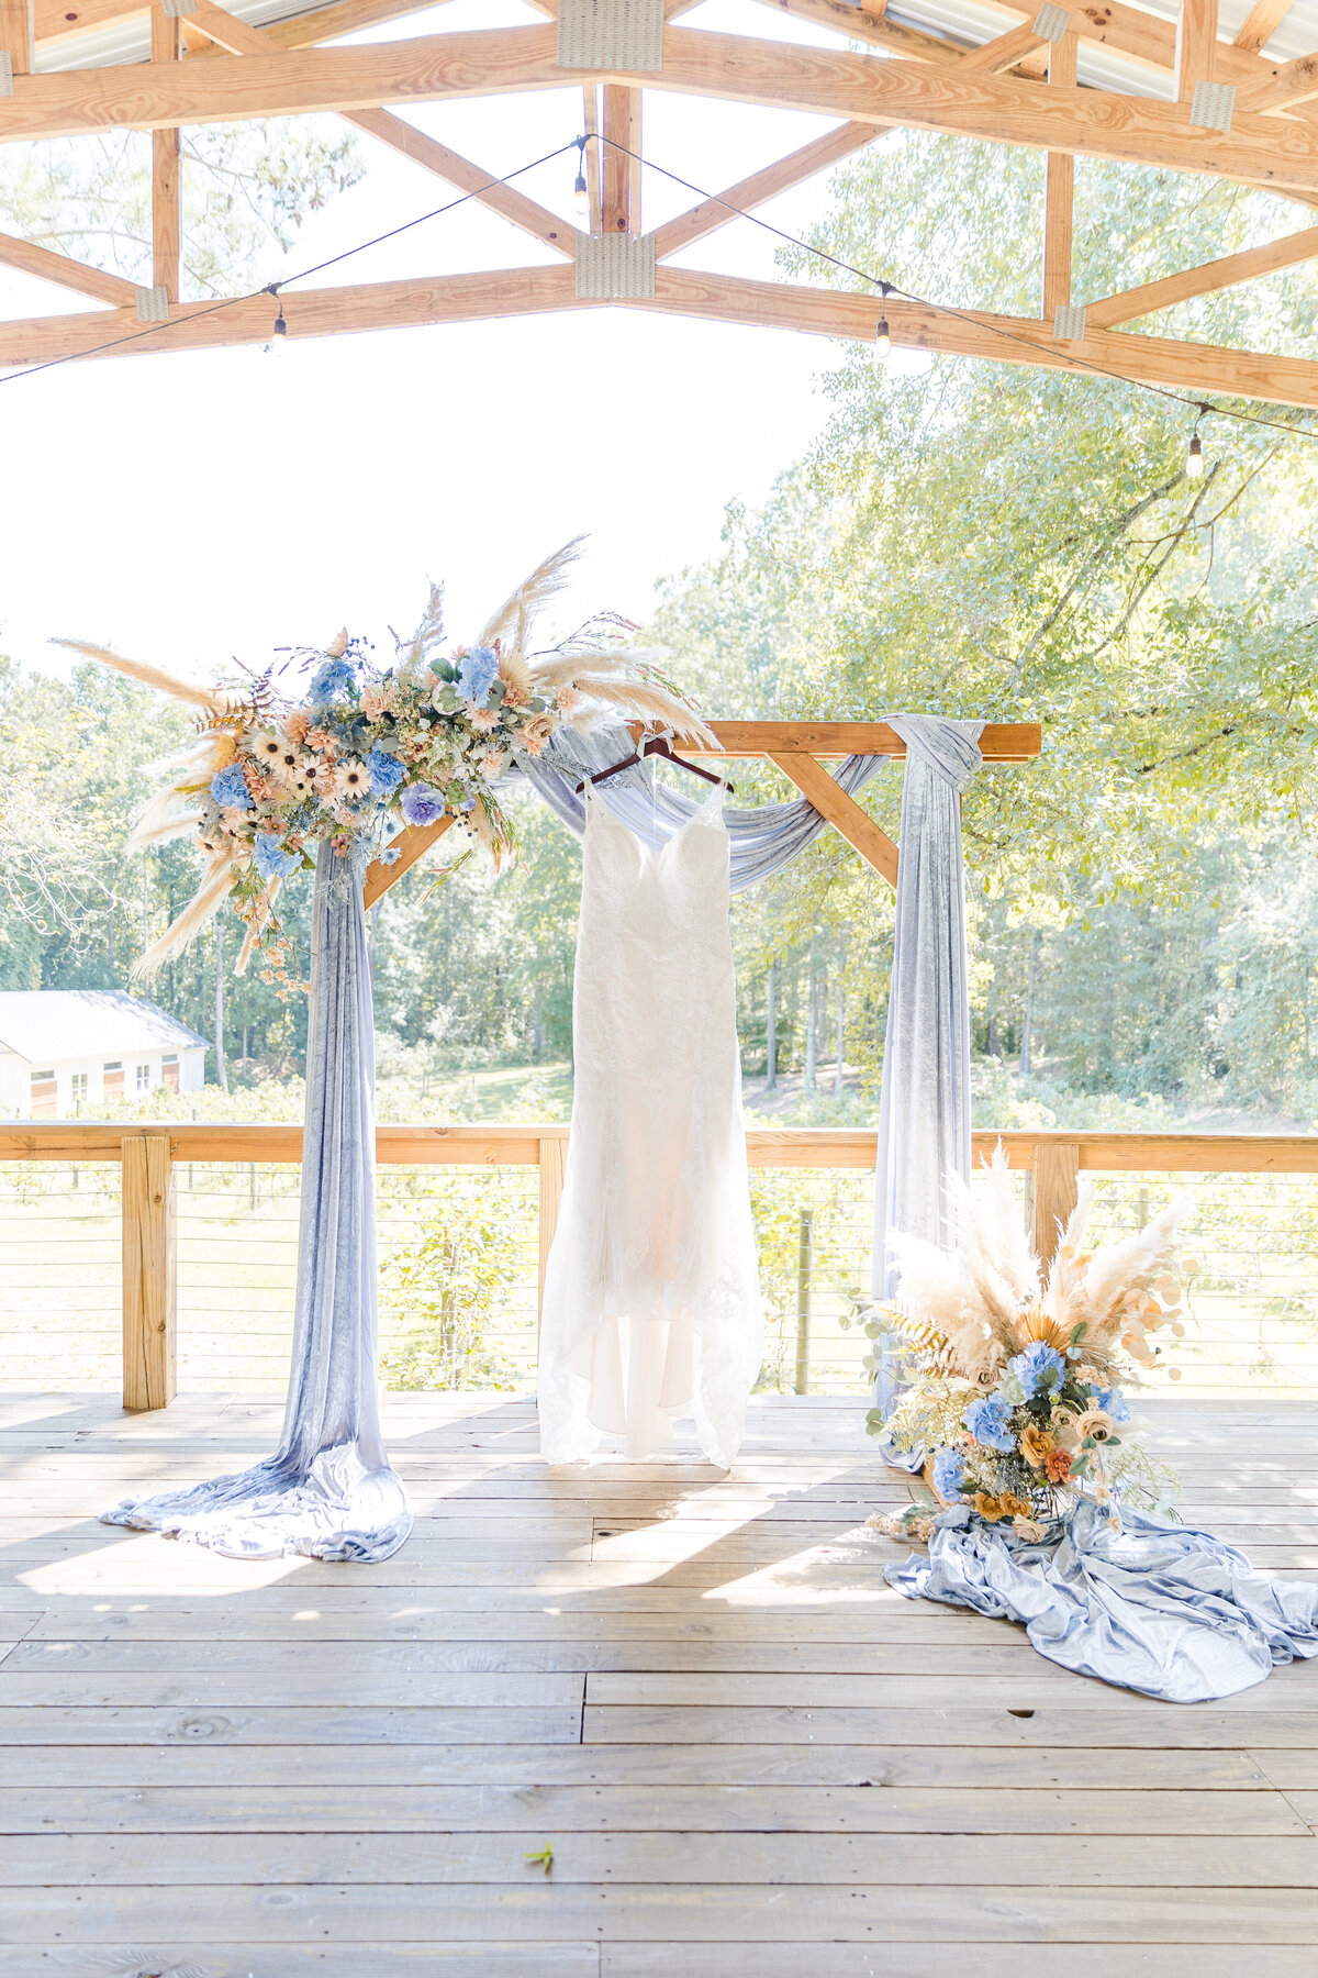
{"label": "floor-standing floral arrangement with pampas grass at arch's right foot", "polygon": [[[901,1341],[909,1387],[871,1432],[897,1450],[925,1452],[925,1480],[941,1505],[968,1503],[992,1525],[1010,1521],[1039,1541],[1049,1523],[1091,1493],[1118,1521],[1116,1501],[1168,1509],[1172,1476],[1130,1428],[1122,1389],[1160,1363],[1150,1333],[1180,1323],[1176,1203],[1120,1242],[1085,1248],[1091,1185],[1041,1272],[1012,1195],[1002,1151],[984,1193],[956,1183],[954,1252],[913,1236],[893,1240],[897,1302],[871,1309],[867,1331]],[[1178,1369],[1170,1369],[1172,1379]],[[927,1539],[933,1517],[911,1507],[869,1521]]]}

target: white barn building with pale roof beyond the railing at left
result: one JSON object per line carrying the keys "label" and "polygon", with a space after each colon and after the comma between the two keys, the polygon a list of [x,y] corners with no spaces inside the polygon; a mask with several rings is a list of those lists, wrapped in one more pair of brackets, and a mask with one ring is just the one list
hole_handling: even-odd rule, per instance
{"label": "white barn building with pale roof beyond the railing at left", "polygon": [[107,1100],[206,1084],[209,1044],[124,989],[0,991],[0,1118],[71,1120]]}

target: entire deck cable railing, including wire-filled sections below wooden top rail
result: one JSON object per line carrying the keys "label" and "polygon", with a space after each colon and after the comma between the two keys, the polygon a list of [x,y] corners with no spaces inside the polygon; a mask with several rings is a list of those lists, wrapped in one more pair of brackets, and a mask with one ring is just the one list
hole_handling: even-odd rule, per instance
{"label": "entire deck cable railing, including wire-filled sections below wooden top rail", "polygon": [[[526,1387],[565,1125],[381,1125],[381,1353],[391,1387]],[[0,1381],[281,1389],[296,1264],[296,1125],[0,1122]],[[1318,1137],[978,1131],[1049,1254],[1077,1179],[1093,1232],[1134,1230],[1194,1177],[1182,1391],[1318,1393]],[[751,1127],[767,1305],[761,1385],[865,1389],[875,1133]],[[55,1185],[57,1183],[57,1185]],[[67,1379],[61,1379],[67,1375]]]}

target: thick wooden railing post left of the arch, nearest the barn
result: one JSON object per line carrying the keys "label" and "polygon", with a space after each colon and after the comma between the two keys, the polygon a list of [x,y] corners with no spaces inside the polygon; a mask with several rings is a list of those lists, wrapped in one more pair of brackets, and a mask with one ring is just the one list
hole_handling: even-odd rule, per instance
{"label": "thick wooden railing post left of the arch, nearest the barn", "polygon": [[168,1133],[123,1139],[124,1408],[176,1394],[178,1260]]}

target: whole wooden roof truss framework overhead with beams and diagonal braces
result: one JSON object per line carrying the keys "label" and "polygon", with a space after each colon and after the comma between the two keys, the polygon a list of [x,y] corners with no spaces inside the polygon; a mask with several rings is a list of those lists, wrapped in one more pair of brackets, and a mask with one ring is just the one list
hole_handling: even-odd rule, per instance
{"label": "whole wooden roof truss framework overhead with beams and diagonal braces", "polygon": [[[417,12],[425,0],[336,0],[255,28],[213,0],[0,0],[0,142],[107,129],[154,135],[154,277],[119,275],[0,235],[0,261],[61,283],[109,309],[0,324],[0,366],[53,358],[267,342],[275,305],[257,295],[215,311],[180,303],[180,154],[186,125],[336,111],[381,144],[470,192],[559,257],[557,265],[435,279],[287,289],[290,336],[456,322],[563,309],[626,307],[723,322],[771,324],[873,340],[871,295],[743,281],[678,269],[672,255],[731,218],[705,200],[646,231],[640,208],[646,89],[812,111],[838,127],[727,188],[755,208],[860,150],[893,127],[1024,144],[1047,154],[1039,241],[1039,315],[943,315],[887,301],[891,340],[919,350],[1037,364],[1195,396],[1239,396],[1318,409],[1318,364],[1298,356],[1213,348],[1122,330],[1190,297],[1318,257],[1318,225],[1120,295],[1073,291],[1071,184],[1077,152],[1174,168],[1318,206],[1318,55],[1263,53],[1290,0],[1257,0],[1233,40],[1217,32],[1217,0],[1180,0],[1180,24],[1124,0],[1071,10],[1035,0],[984,0],[974,20],[1000,32],[982,45],[885,16],[887,0],[765,0],[838,32],[836,47],[763,42],[682,26],[696,0],[532,0],[541,26],[431,34],[336,47],[364,26]],[[435,0],[429,0],[435,4]],[[142,57],[97,59],[105,32],[138,38]],[[101,44],[97,42],[101,36]],[[146,40],[150,36],[150,42]],[[852,45],[844,45],[852,44]],[[862,44],[860,49],[856,44]],[[1130,93],[1095,83],[1081,53],[1118,57]],[[883,59],[875,59],[875,55]],[[59,63],[59,67],[53,67]],[[71,63],[71,65],[65,65]],[[36,73],[41,69],[41,73]],[[12,79],[10,79],[12,71]],[[579,85],[593,144],[589,227],[565,218],[417,131],[385,105]],[[567,180],[567,172],[565,172]],[[1278,220],[1282,208],[1278,206]],[[937,299],[935,299],[937,301]]]}

